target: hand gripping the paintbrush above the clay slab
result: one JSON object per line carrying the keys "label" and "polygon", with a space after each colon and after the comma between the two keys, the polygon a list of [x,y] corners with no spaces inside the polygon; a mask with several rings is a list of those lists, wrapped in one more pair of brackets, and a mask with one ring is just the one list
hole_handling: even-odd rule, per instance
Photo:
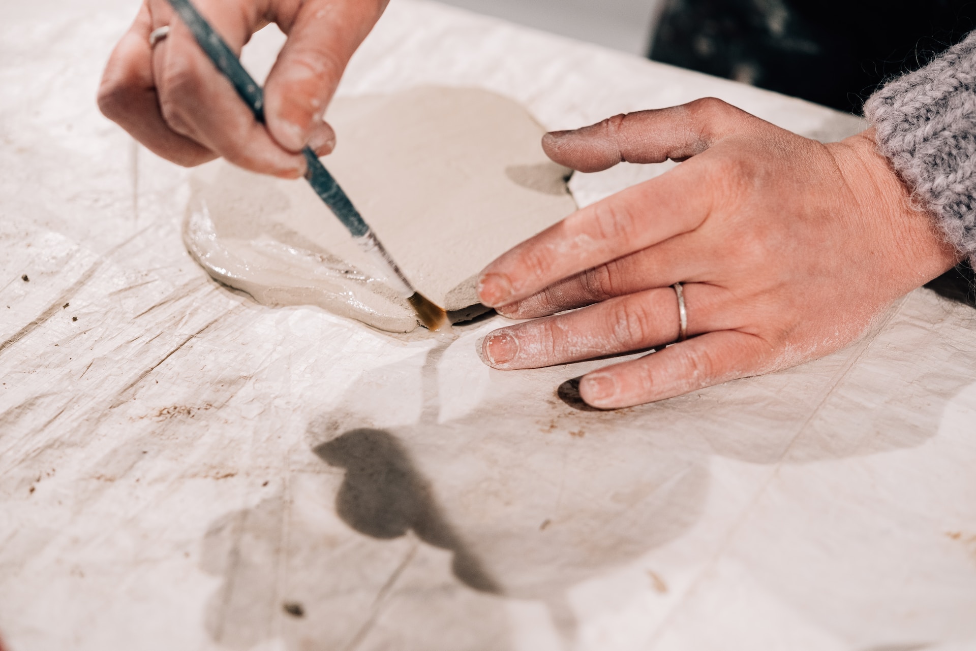
{"label": "hand gripping the paintbrush above the clay slab", "polygon": [[[251,170],[295,178],[305,145],[320,156],[336,136],[322,121],[346,63],[388,0],[196,0],[199,12],[239,56],[251,35],[275,22],[288,41],[264,85],[260,124],[193,39],[167,0],[143,0],[112,52],[99,107],[146,147],[190,167],[223,156]],[[149,34],[170,25],[149,45]]]}

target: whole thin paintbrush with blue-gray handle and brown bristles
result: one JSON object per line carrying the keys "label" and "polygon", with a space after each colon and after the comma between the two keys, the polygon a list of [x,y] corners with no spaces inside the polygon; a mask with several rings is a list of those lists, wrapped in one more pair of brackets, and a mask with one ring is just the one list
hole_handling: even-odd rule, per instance
{"label": "whole thin paintbrush with blue-gray handle and brown bristles", "polygon": [[[210,26],[210,23],[200,16],[200,13],[196,11],[189,0],[169,0],[169,3],[183,19],[193,34],[193,38],[196,39],[207,57],[210,57],[217,69],[224,73],[224,77],[233,84],[237,95],[241,96],[254,111],[254,117],[258,122],[264,123],[264,91],[244,69],[233,50],[227,46],[221,35]],[[370,229],[369,224],[349,201],[343,188],[339,187],[336,179],[318,160],[315,152],[310,147],[305,147],[302,153],[308,163],[308,171],[305,172],[305,179],[308,184],[349,229],[352,239],[376,260],[381,270],[386,272],[387,280],[410,302],[421,323],[431,330],[437,330],[448,325],[447,313],[444,309],[433,303],[410,284],[396,262],[384,249],[376,234]]]}

